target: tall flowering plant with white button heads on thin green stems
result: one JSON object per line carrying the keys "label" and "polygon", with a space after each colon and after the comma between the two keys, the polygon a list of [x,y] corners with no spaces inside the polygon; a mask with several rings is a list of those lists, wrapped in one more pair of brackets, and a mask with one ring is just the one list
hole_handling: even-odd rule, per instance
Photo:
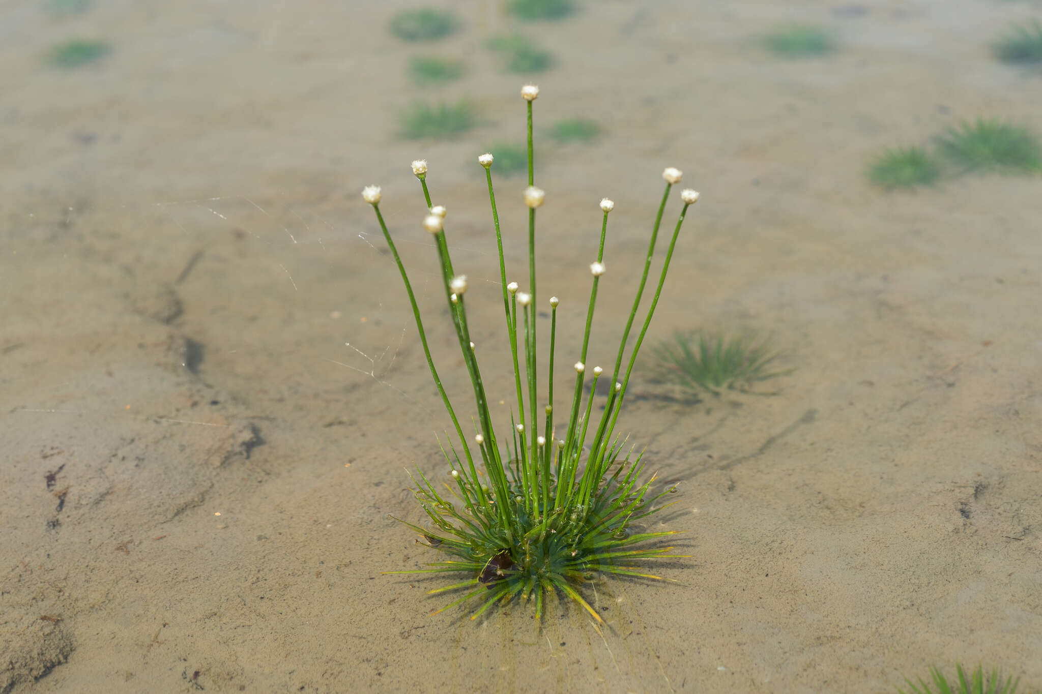
{"label": "tall flowering plant with white button heads on thin green stems", "polygon": [[[505,605],[518,598],[535,602],[536,618],[539,620],[547,600],[563,596],[573,600],[598,623],[602,623],[600,615],[581,594],[586,582],[598,572],[663,580],[662,576],[648,573],[641,564],[646,560],[678,557],[670,554],[672,547],[659,546],[655,542],[676,531],[646,531],[640,525],[648,517],[670,506],[660,506],[660,503],[664,496],[674,492],[676,487],[671,485],[661,492],[652,492],[651,485],[655,477],[643,477],[643,455],[632,458],[631,449],[623,452],[626,441],[616,433],[615,426],[637,354],[662,294],[685,215],[688,208],[697,202],[698,194],[691,189],[680,192],[684,206],[666,251],[653,298],[630,350],[629,361],[623,368],[627,339],[641,305],[662,217],[670,191],[683,176],[672,168],[663,172],[666,189],[654,217],[644,272],[622,333],[615,367],[611,372],[613,387],[610,388],[602,409],[595,410],[594,400],[600,396],[596,394],[596,387],[585,396],[585,380],[592,370],[592,384],[596,386],[604,369],[599,366],[587,368],[587,349],[598,283],[605,272],[603,254],[607,217],[615,207],[611,200],[601,200],[600,245],[597,259],[590,265],[593,283],[586,310],[582,346],[574,366],[569,368],[575,374],[575,384],[571,405],[567,410],[567,425],[564,430],[557,430],[553,420],[559,305],[555,297],[547,302],[550,309],[549,353],[537,354],[537,345],[541,344],[537,339],[537,315],[541,311],[537,308],[540,304],[537,303],[536,293],[536,217],[546,196],[535,186],[532,157],[532,102],[539,96],[539,88],[525,85],[521,89],[521,96],[527,109],[528,187],[523,191],[528,212],[527,291],[521,290],[517,282],[507,282],[499,213],[492,182],[492,166],[496,159],[492,154],[482,154],[477,159],[485,169],[492,224],[496,232],[499,290],[506,324],[505,342],[513,358],[517,397],[511,427],[505,432],[504,439],[499,438],[504,433],[503,422],[498,423],[498,432],[494,425],[496,417],[489,406],[490,396],[486,392],[478,362],[478,355],[483,354],[485,348],[471,341],[467,303],[473,297],[473,291],[468,292],[467,276],[460,272],[461,268],[450,257],[446,240],[446,210],[441,205],[432,204],[427,187],[427,162],[414,161],[413,174],[420,182],[429,210],[423,219],[423,228],[430,233],[432,246],[437,249],[441,294],[452,320],[463,364],[470,378],[476,412],[472,419],[475,432],[471,435],[464,434],[456,410],[442,386],[442,379],[435,366],[412,284],[380,212],[380,188],[368,186],[362,194],[363,199],[372,205],[383,238],[398,266],[427,366],[452,420],[455,434],[454,440],[449,438],[447,446],[442,444],[442,452],[450,468],[446,483],[432,483],[419,468],[414,477],[417,486],[414,493],[427,516],[429,526],[401,521],[423,538],[424,542],[421,544],[448,555],[449,559],[428,564],[428,568],[388,573],[466,574],[468,577],[464,581],[430,591],[463,593],[432,614],[477,598],[477,607],[471,615],[471,619],[476,619],[496,602]],[[482,283],[476,290],[487,286],[490,285]],[[480,334],[486,333],[482,327]],[[545,393],[537,393],[540,357],[546,360]],[[476,453],[472,446],[476,446]],[[651,545],[647,544],[649,541],[652,542]]]}

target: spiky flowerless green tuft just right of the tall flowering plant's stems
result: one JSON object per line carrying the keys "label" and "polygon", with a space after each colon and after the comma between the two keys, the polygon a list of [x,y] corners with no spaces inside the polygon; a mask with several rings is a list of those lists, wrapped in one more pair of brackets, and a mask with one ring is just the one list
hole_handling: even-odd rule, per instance
{"label": "spiky flowerless green tuft just right of the tall flowering plant's stems", "polygon": [[675,383],[697,397],[704,390],[719,395],[724,388],[749,392],[754,383],[792,372],[770,370],[779,354],[766,340],[698,333],[695,344],[695,337],[674,333],[672,340],[660,342],[651,351],[656,381]]}

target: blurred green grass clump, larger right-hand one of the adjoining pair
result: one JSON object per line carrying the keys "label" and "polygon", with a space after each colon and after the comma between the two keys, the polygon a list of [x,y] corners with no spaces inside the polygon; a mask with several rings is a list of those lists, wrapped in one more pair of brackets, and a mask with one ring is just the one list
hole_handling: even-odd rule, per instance
{"label": "blurred green grass clump, larger right-hand one of the adjoining pair", "polygon": [[938,137],[938,149],[964,172],[1042,171],[1042,145],[1029,128],[995,119],[963,121]]}

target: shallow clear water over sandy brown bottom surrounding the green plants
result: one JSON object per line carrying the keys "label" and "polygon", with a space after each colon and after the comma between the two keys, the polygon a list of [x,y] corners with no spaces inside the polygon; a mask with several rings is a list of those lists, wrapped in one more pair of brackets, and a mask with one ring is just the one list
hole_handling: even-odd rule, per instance
{"label": "shallow clear water over sandy brown bottom surrounding the green plants", "polygon": [[[466,402],[408,169],[428,159],[508,400],[474,160],[523,138],[526,76],[483,48],[513,26],[499,3],[454,3],[466,29],[430,47],[386,31],[401,2],[54,9],[75,4],[0,15],[0,691],[878,692],[957,660],[1042,687],[1042,180],[864,176],[962,119],[1042,128],[1042,76],[989,49],[1039,5],[587,0],[525,27],[557,56],[536,132],[559,363],[597,202],[607,366],[675,165],[702,198],[649,340],[755,330],[795,369],[693,404],[641,362],[620,428],[684,481],[661,520],[693,557],[662,568],[677,584],[589,586],[598,631],[564,602],[542,628],[517,606],[431,618],[438,580],[379,573],[426,559],[387,516],[419,519],[403,468],[444,474],[449,422],[358,192],[383,186]],[[839,50],[764,52],[789,22]],[[111,52],[49,65],[75,37]],[[427,52],[469,63],[443,96],[480,124],[454,142],[397,134],[436,96],[405,77]],[[577,115],[600,139],[550,145]],[[523,176],[497,185],[522,279]]]}

